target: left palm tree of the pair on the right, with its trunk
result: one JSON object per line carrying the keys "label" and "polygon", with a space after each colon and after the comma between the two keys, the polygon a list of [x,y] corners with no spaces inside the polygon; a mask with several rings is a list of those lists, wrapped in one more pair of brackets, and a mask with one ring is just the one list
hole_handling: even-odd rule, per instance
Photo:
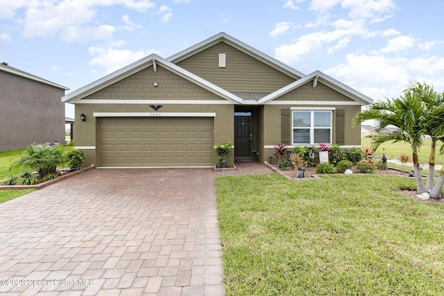
{"label": "left palm tree of the pair on the right, with its trunk", "polygon": [[373,151],[386,141],[404,141],[410,144],[413,155],[413,170],[416,177],[416,189],[418,193],[425,193],[424,182],[422,182],[421,169],[418,153],[422,146],[422,138],[426,133],[425,114],[422,103],[411,92],[406,92],[404,96],[393,98],[387,102],[375,102],[367,110],[359,112],[353,119],[353,127],[360,123],[373,119],[376,121],[375,131],[380,132],[388,125],[395,125],[399,128],[394,134],[387,134],[376,137],[373,141]]}

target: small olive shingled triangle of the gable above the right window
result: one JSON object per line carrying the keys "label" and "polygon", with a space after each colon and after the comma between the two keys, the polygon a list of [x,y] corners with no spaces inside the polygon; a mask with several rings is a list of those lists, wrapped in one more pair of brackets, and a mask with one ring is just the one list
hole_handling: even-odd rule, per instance
{"label": "small olive shingled triangle of the gable above the right window", "polygon": [[275,101],[353,101],[351,98],[336,92],[336,90],[318,82],[313,87],[313,82],[309,81],[287,94],[275,98]]}

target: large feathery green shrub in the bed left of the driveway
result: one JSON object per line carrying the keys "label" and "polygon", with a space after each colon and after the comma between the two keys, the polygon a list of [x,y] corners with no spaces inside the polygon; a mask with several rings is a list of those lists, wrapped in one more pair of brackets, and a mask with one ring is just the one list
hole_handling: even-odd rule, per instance
{"label": "large feathery green shrub in the bed left of the driveway", "polygon": [[51,146],[49,143],[30,145],[20,157],[12,164],[13,167],[24,166],[37,171],[42,179],[48,174],[55,174],[56,168],[66,161],[66,156],[60,146]]}

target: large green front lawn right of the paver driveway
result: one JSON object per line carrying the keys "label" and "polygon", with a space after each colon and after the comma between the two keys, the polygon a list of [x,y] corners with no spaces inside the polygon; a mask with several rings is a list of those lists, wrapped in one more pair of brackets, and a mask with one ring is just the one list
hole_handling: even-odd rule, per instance
{"label": "large green front lawn right of the paver driveway", "polygon": [[227,295],[443,295],[444,204],[388,175],[216,178]]}

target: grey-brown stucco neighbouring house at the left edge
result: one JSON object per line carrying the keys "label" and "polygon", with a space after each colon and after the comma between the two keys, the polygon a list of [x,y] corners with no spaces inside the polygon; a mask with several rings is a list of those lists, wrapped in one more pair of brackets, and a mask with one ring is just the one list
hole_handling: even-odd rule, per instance
{"label": "grey-brown stucco neighbouring house at the left edge", "polygon": [[23,149],[34,142],[65,143],[67,87],[0,64],[0,151]]}

